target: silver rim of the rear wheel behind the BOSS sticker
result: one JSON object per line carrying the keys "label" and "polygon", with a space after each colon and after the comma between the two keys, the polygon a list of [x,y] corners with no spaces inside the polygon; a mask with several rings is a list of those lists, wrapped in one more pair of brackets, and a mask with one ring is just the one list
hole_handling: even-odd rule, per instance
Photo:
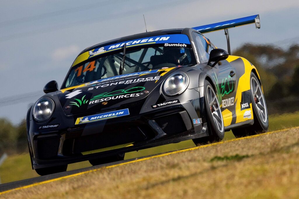
{"label": "silver rim of the rear wheel behind the BOSS sticker", "polygon": [[266,123],[267,121],[267,111],[266,111],[266,101],[262,92],[262,89],[260,87],[260,84],[257,82],[257,80],[252,77],[251,78],[251,93],[254,98],[254,104],[257,108],[257,113],[261,120]]}

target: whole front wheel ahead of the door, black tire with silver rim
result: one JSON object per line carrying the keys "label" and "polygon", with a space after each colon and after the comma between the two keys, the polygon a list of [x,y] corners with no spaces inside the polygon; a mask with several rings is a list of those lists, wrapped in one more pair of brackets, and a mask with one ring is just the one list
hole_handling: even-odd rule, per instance
{"label": "whole front wheel ahead of the door, black tire with silver rim", "polygon": [[213,89],[208,80],[205,80],[205,109],[207,114],[208,132],[209,136],[204,138],[193,139],[193,142],[198,146],[202,144],[212,143],[220,141],[224,138],[224,123],[220,109],[220,104]]}

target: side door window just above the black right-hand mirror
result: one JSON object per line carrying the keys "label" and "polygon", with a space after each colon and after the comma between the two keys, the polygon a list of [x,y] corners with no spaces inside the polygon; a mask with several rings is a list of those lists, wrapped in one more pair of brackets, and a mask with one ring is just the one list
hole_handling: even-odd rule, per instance
{"label": "side door window just above the black right-hand mirror", "polygon": [[202,63],[209,61],[209,53],[212,50],[211,46],[208,44],[208,40],[199,33],[193,32],[192,33],[193,39],[195,41],[195,45],[197,51],[199,53],[199,58]]}

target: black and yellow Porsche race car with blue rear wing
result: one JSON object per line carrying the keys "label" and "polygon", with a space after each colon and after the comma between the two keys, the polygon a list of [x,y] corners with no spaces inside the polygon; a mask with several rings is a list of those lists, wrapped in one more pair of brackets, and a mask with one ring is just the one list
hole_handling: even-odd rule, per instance
{"label": "black and yellow Porsche race car with blue rear wing", "polygon": [[27,113],[32,168],[39,175],[88,160],[192,139],[220,141],[266,132],[257,69],[216,48],[202,33],[255,23],[250,16],[195,28],[159,30],[83,50],[59,90],[56,81]]}

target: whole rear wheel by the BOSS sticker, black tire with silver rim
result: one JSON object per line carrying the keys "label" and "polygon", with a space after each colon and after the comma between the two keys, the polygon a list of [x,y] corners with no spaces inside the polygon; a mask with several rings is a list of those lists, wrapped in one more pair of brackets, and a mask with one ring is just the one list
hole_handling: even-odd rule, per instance
{"label": "whole rear wheel by the BOSS sticker, black tire with silver rim", "polygon": [[269,127],[268,110],[266,100],[257,76],[250,75],[250,98],[253,110],[254,124],[250,127],[232,129],[236,138],[264,133]]}

